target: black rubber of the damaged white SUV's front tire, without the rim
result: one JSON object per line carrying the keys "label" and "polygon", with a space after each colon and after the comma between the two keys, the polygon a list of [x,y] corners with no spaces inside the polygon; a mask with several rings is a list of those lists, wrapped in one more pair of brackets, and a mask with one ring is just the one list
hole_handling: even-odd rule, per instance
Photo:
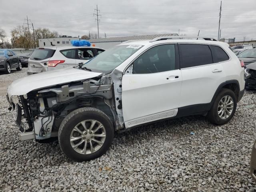
{"label": "black rubber of the damaged white SUV's front tire, without the rim", "polygon": [[[98,150],[91,154],[80,154],[72,148],[70,143],[70,135],[72,134],[73,128],[84,120],[96,120],[100,122],[106,130],[104,143]],[[64,118],[58,131],[58,140],[61,150],[68,158],[78,162],[92,160],[105,154],[113,138],[114,128],[111,120],[104,112],[90,107],[79,108],[72,111]]]}

